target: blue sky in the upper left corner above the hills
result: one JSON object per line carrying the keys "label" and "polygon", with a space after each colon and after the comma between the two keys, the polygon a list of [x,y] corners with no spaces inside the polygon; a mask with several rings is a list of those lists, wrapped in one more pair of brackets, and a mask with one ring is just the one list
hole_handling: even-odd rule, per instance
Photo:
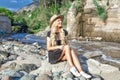
{"label": "blue sky in the upper left corner above the hills", "polygon": [[0,0],[0,7],[7,8],[11,11],[17,11],[32,2],[33,0]]}

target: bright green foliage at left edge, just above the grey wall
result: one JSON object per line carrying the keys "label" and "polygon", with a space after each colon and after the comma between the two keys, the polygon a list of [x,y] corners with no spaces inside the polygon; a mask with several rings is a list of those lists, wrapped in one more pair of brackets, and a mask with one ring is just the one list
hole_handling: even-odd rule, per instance
{"label": "bright green foliage at left edge, just above the grey wall", "polygon": [[0,15],[8,16],[11,19],[11,24],[13,24],[13,21],[14,21],[13,13],[10,10],[5,8],[0,8]]}

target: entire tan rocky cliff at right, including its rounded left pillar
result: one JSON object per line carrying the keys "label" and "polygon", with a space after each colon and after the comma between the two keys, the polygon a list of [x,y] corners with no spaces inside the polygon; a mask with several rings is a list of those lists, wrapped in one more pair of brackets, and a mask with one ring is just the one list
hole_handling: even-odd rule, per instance
{"label": "entire tan rocky cliff at right, including its rounded left pillar", "polygon": [[[100,20],[93,0],[86,0],[84,1],[84,10],[82,12],[76,11],[74,5],[69,9],[67,15],[68,31],[73,37],[101,37],[106,41],[120,42],[120,36],[118,36],[120,34],[120,4],[118,4],[120,1],[110,0],[109,6],[106,5],[107,0],[96,1],[107,11],[107,19],[105,21]],[[76,4],[76,2],[73,3]]]}

